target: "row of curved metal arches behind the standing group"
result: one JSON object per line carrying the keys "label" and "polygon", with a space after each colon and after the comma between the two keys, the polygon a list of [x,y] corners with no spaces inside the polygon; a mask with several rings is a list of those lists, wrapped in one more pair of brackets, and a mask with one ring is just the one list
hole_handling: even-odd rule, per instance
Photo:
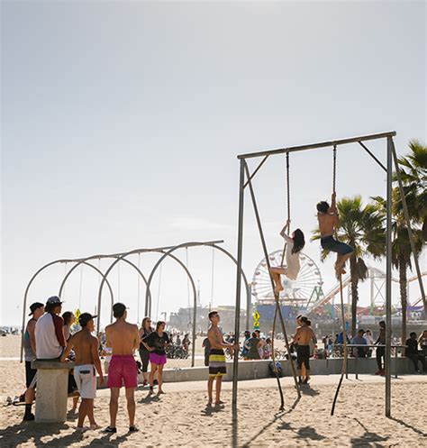
{"label": "row of curved metal arches behind the standing group", "polygon": [[[237,260],[232,256],[232,253],[230,253],[229,251],[226,251],[225,249],[223,249],[223,247],[218,246],[214,242],[183,242],[181,244],[178,244],[177,246],[169,248],[168,250],[164,250],[164,249],[135,249],[135,250],[128,251],[128,252],[125,252],[122,254],[111,254],[111,255],[98,254],[98,255],[91,255],[89,257],[86,257],[85,259],[78,259],[78,260],[60,259],[60,260],[56,260],[56,261],[50,261],[49,263],[42,266],[39,270],[37,270],[33,274],[32,278],[28,282],[27,287],[25,288],[25,293],[23,296],[23,332],[25,330],[25,312],[26,312],[26,308],[27,308],[29,291],[32,286],[32,283],[39,276],[39,274],[41,274],[41,272],[43,270],[46,270],[46,269],[50,268],[51,266],[53,266],[55,264],[59,264],[59,263],[75,263],[74,266],[70,270],[68,270],[67,274],[61,281],[61,284],[59,287],[59,293],[58,293],[59,297],[61,297],[61,295],[64,291],[67,280],[69,279],[69,277],[71,276],[73,271],[76,270],[79,266],[85,265],[85,266],[95,270],[101,276],[101,283],[100,283],[99,290],[98,290],[97,308],[96,308],[97,314],[98,314],[97,323],[96,323],[96,331],[97,331],[97,333],[99,333],[100,325],[101,325],[101,303],[102,303],[102,297],[103,297],[104,284],[107,286],[107,288],[109,290],[109,295],[110,295],[110,299],[111,299],[111,307],[113,307],[113,305],[114,305],[114,292],[113,292],[113,288],[111,287],[111,284],[108,281],[108,276],[111,273],[111,271],[114,269],[114,266],[116,266],[120,261],[123,261],[123,262],[127,263],[129,266],[131,266],[134,270],[137,271],[138,275],[141,277],[141,279],[144,282],[145,287],[146,287],[145,315],[150,315],[151,302],[152,302],[151,301],[151,292],[150,292],[151,281],[154,277],[156,270],[158,270],[160,264],[162,263],[162,261],[166,260],[167,258],[170,258],[171,260],[176,261],[178,263],[178,265],[183,270],[185,270],[186,276],[188,277],[189,283],[190,283],[192,291],[193,291],[193,325],[192,325],[192,339],[193,339],[192,342],[193,343],[192,343],[191,365],[192,365],[192,367],[194,367],[194,365],[195,365],[195,333],[196,333],[195,332],[195,327],[196,327],[195,322],[196,322],[196,317],[197,317],[197,292],[196,292],[196,288],[195,288],[195,280],[193,279],[193,276],[191,275],[190,271],[187,269],[187,267],[183,263],[183,261],[179,260],[173,254],[173,252],[177,251],[178,249],[191,247],[191,246],[212,247],[214,250],[223,252],[237,266]],[[127,257],[129,257],[131,255],[147,253],[147,252],[151,252],[151,253],[157,252],[157,253],[162,254],[161,257],[159,258],[159,261],[156,262],[153,269],[151,270],[150,276],[148,279],[144,276],[141,269],[135,263],[127,260]],[[99,268],[97,268],[94,264],[90,263],[90,261],[93,261],[93,260],[109,259],[109,258],[114,259],[114,261],[110,264],[110,266],[104,273]],[[249,328],[250,306],[251,306],[250,284],[248,283],[248,279],[246,278],[246,275],[243,270],[241,270],[241,278],[243,279],[243,282],[246,287],[246,293],[247,293],[246,326],[247,326],[247,328]],[[113,310],[110,311],[110,320],[111,321],[113,320]],[[23,332],[22,332],[22,334],[23,334]],[[23,343],[21,345],[21,361],[23,361]]]}

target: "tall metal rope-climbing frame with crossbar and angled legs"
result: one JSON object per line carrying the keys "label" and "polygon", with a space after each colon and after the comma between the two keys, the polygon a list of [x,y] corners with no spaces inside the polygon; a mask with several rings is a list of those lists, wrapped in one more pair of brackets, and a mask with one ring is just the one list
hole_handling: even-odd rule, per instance
{"label": "tall metal rope-climbing frame with crossbar and angled legs", "polygon": [[[392,174],[393,174],[393,165],[395,165],[395,173],[398,182],[398,187],[400,190],[400,196],[402,198],[402,204],[404,208],[404,217],[407,224],[409,240],[411,243],[411,249],[413,252],[413,260],[416,268],[417,277],[419,280],[420,290],[422,293],[422,303],[424,306],[424,310],[427,313],[427,301],[425,299],[424,288],[422,285],[422,275],[420,270],[420,265],[418,262],[418,258],[416,256],[416,252],[414,251],[414,242],[413,242],[413,232],[411,229],[411,223],[409,219],[409,213],[407,209],[406,199],[404,197],[404,187],[402,184],[402,177],[398,165],[397,154],[395,151],[395,142],[393,137],[395,137],[396,133],[394,131],[388,133],[374,133],[368,135],[361,135],[359,137],[351,137],[348,139],[335,140],[330,142],[318,142],[311,143],[302,146],[293,146],[288,148],[280,148],[275,150],[268,151],[258,151],[251,152],[238,155],[238,160],[240,160],[240,182],[239,182],[239,220],[238,220],[238,238],[237,238],[237,273],[236,273],[236,302],[235,302],[235,326],[234,326],[234,334],[240,334],[240,319],[239,319],[239,310],[241,308],[241,266],[242,266],[242,252],[243,252],[243,228],[244,228],[244,199],[245,199],[245,188],[250,187],[250,198],[252,202],[252,206],[254,209],[255,217],[257,220],[257,225],[259,229],[259,238],[262,243],[263,251],[265,259],[268,263],[268,271],[269,271],[269,261],[268,261],[268,250],[264,237],[264,231],[262,229],[261,220],[259,217],[259,209],[257,206],[256,197],[254,194],[254,189],[252,186],[252,180],[262,168],[264,163],[268,160],[270,156],[277,154],[289,154],[290,152],[297,151],[308,151],[308,150],[317,150],[321,148],[333,148],[337,149],[341,146],[348,145],[350,143],[359,143],[359,145],[367,151],[369,156],[377,162],[377,164],[386,171],[386,357],[385,357],[385,367],[386,367],[386,389],[385,389],[385,414],[386,416],[391,416],[391,370],[390,370],[390,360],[391,360],[391,304],[392,304]],[[374,141],[374,140],[386,140],[386,166],[384,166],[375,155],[368,150],[367,146],[364,142]],[[256,169],[250,173],[247,160],[262,157],[262,160],[259,162],[259,165]],[[271,275],[270,275],[271,279]],[[274,288],[273,279],[271,279],[271,286]],[[280,324],[282,326],[283,334],[285,336],[286,344],[286,328],[283,320],[283,315],[281,313],[281,309],[278,302],[278,297],[276,298],[277,302],[277,314],[279,316]],[[292,362],[292,361],[291,361]],[[294,366],[293,362],[291,364]],[[238,398],[238,374],[239,374],[239,360],[238,357],[235,356],[233,360],[233,378],[232,378],[232,410],[233,415],[237,416],[237,398]],[[300,397],[300,391],[297,387],[295,370],[294,370],[294,379],[295,386],[298,393],[298,398]]]}

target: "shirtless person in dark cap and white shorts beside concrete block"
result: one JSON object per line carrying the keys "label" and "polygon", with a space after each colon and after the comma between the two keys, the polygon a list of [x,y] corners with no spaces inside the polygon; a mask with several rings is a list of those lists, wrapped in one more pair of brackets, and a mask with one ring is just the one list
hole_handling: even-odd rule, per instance
{"label": "shirtless person in dark cap and white shorts beside concrete block", "polygon": [[69,352],[71,352],[72,349],[74,349],[74,352],[76,353],[74,379],[76,380],[77,389],[82,398],[78,409],[78,431],[85,431],[88,429],[83,425],[86,416],[89,419],[90,429],[98,429],[101,427],[96,424],[94,417],[94,399],[96,396],[95,370],[99,375],[100,386],[104,384],[103,370],[101,369],[101,361],[99,361],[99,342],[98,339],[92,335],[92,332],[95,330],[95,317],[95,315],[89,313],[83,313],[79,316],[78,323],[81,325],[82,329],[68,339],[67,348],[60,357],[60,361],[66,362]]}

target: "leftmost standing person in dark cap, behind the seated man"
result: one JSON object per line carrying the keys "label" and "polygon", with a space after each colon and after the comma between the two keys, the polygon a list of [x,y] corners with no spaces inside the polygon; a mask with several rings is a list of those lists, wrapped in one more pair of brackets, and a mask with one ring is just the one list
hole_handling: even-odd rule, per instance
{"label": "leftmost standing person in dark cap, behind the seated man", "polygon": [[[23,356],[25,361],[25,413],[23,415],[23,421],[34,420],[32,414],[32,403],[35,398],[35,377],[36,369],[32,369],[32,361],[36,359],[36,341],[35,341],[35,325],[39,317],[44,314],[44,305],[40,302],[34,302],[30,306],[30,315],[32,318],[28,321],[23,334]],[[34,379],[34,381],[33,381]]]}

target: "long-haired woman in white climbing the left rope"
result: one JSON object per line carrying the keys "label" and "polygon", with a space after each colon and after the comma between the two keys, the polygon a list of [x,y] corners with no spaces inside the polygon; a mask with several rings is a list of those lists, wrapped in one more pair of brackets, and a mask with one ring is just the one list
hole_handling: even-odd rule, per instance
{"label": "long-haired woman in white climbing the left rope", "polygon": [[[271,277],[275,282],[275,294],[283,291],[283,285],[280,279],[281,275],[286,275],[288,279],[295,280],[298,277],[299,270],[301,269],[299,263],[299,252],[304,248],[304,233],[300,229],[296,229],[295,232],[292,233],[292,236],[289,236],[287,232],[290,224],[291,222],[287,220],[285,227],[280,232],[280,235],[286,241],[286,265],[277,266],[271,268],[270,270]],[[285,257],[282,257],[282,264],[284,258]]]}

